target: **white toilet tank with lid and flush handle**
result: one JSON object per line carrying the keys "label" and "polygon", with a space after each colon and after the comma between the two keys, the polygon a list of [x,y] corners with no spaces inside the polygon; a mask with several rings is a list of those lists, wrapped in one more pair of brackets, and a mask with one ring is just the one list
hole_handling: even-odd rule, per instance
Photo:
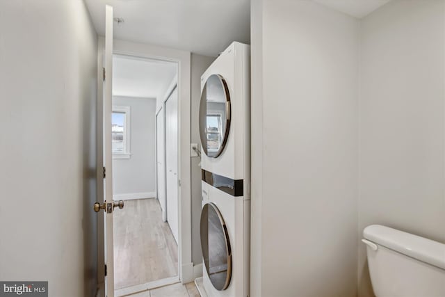
{"label": "white toilet tank with lid and flush handle", "polygon": [[382,225],[363,236],[375,296],[445,296],[445,244]]}

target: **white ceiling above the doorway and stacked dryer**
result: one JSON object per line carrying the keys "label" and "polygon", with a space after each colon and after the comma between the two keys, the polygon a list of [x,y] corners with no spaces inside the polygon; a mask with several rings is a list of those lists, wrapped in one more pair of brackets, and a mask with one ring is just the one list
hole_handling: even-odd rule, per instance
{"label": "white ceiling above the doorway and stacked dryer", "polygon": [[217,56],[233,41],[250,43],[250,0],[85,0],[99,35],[105,4],[114,38]]}

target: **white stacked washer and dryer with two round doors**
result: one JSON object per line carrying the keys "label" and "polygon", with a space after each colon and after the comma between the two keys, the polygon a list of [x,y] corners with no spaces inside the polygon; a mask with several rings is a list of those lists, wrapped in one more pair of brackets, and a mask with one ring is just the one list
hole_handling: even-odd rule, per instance
{"label": "white stacked washer and dryer with two round doors", "polygon": [[234,42],[201,77],[203,295],[250,294],[250,46]]}

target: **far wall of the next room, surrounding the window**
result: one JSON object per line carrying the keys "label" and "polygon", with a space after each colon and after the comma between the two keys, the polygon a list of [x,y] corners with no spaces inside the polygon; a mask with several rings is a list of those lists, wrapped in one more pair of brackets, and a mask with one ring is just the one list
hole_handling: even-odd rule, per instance
{"label": "far wall of the next room, surrounding the window", "polygon": [[156,196],[156,98],[113,97],[113,105],[130,107],[130,159],[113,159],[113,195]]}

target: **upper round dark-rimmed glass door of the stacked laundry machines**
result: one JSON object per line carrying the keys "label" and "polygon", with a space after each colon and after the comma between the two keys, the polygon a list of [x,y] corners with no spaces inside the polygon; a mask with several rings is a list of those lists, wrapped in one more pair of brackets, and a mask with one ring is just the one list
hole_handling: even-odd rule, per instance
{"label": "upper round dark-rimmed glass door of the stacked laundry machines", "polygon": [[200,136],[207,156],[216,158],[223,152],[229,128],[229,88],[223,77],[213,74],[202,89],[200,103]]}

